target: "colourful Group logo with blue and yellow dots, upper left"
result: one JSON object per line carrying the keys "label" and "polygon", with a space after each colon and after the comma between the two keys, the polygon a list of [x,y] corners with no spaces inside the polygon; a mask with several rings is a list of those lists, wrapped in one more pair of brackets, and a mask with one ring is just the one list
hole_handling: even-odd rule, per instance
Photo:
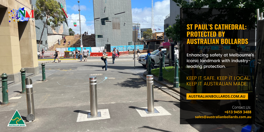
{"label": "colourful Group logo with blue and yellow dots, upper left", "polygon": [[[8,12],[9,14],[9,22],[15,21],[16,23],[19,21],[28,21],[28,20],[35,20],[34,18],[34,10],[31,10],[30,14],[26,8],[19,8],[18,10],[11,10]],[[31,17],[30,17],[31,15]]]}

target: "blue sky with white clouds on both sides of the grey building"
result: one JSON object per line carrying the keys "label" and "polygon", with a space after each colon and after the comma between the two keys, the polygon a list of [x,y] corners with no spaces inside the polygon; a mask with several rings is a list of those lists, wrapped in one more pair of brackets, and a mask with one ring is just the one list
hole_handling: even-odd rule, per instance
{"label": "blue sky with white clouds on both sides of the grey building", "polygon": [[[79,0],[82,33],[94,34],[93,0]],[[131,0],[132,21],[140,23],[140,28],[151,28],[151,0]],[[68,26],[77,34],[80,33],[79,11],[77,0],[66,0],[68,12]],[[169,0],[153,0],[154,28],[157,32],[164,32],[164,19],[170,14]],[[77,23],[75,27],[73,22]],[[158,30],[158,29],[161,30]]]}

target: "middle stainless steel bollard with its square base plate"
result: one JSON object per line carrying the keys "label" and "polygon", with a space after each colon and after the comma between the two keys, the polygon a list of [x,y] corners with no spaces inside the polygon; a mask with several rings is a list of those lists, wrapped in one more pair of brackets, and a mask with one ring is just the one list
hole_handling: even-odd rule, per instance
{"label": "middle stainless steel bollard with its square base plate", "polygon": [[91,113],[88,113],[88,118],[101,117],[101,113],[97,111],[97,80],[96,77],[89,77],[90,86],[90,108]]}

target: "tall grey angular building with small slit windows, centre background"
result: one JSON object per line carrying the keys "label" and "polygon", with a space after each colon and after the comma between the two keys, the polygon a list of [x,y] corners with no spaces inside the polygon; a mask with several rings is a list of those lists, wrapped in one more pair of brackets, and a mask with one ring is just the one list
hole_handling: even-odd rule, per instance
{"label": "tall grey angular building with small slit windows, centre background", "polygon": [[131,0],[93,0],[96,46],[126,45],[132,41]]}

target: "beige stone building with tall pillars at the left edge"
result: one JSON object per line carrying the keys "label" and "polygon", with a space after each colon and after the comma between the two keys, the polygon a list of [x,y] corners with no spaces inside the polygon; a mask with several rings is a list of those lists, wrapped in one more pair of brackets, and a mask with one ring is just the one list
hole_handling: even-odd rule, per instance
{"label": "beige stone building with tall pillars at the left edge", "polygon": [[39,74],[35,21],[9,22],[11,10],[23,7],[30,13],[30,0],[0,0],[0,74],[15,84],[21,82],[21,68]]}

